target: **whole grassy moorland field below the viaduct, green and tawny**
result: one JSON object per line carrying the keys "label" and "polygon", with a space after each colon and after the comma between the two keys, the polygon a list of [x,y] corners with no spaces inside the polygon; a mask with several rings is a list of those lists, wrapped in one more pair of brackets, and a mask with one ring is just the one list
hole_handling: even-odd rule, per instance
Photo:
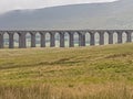
{"label": "whole grassy moorland field below the viaduct, green and tawny", "polygon": [[133,99],[133,44],[0,50],[0,99]]}

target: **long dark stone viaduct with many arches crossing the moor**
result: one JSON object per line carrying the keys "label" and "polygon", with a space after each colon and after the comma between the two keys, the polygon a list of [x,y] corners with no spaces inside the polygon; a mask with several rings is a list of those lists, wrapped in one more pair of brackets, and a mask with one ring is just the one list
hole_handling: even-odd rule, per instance
{"label": "long dark stone viaduct with many arches crossing the moor", "polygon": [[99,45],[104,45],[105,33],[109,35],[109,44],[113,44],[113,34],[117,35],[117,43],[123,42],[123,33],[126,35],[126,42],[132,42],[133,30],[51,30],[51,31],[0,31],[0,48],[4,47],[4,34],[9,35],[9,48],[14,47],[14,34],[19,35],[19,48],[25,48],[25,35],[29,33],[31,35],[31,47],[35,47],[35,34],[40,34],[40,46],[45,47],[45,34],[50,35],[50,47],[55,46],[55,34],[60,35],[60,47],[65,47],[64,45],[64,34],[69,35],[69,47],[74,46],[74,34],[79,35],[79,46],[85,46],[85,34],[90,34],[90,45],[95,45],[95,33],[99,34]]}

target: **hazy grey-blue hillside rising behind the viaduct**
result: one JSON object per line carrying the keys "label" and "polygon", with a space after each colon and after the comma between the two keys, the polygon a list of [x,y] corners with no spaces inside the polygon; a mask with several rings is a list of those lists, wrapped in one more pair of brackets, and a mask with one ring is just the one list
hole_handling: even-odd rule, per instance
{"label": "hazy grey-blue hillside rising behind the viaduct", "polygon": [[133,29],[133,0],[16,10],[0,15],[0,29]]}

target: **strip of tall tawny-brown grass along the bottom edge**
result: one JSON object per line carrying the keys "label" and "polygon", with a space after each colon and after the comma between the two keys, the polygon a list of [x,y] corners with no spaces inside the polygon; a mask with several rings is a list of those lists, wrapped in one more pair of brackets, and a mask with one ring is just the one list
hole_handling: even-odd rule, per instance
{"label": "strip of tall tawny-brown grass along the bottom edge", "polygon": [[0,87],[0,99],[133,99],[133,87],[123,84],[53,88],[49,85]]}

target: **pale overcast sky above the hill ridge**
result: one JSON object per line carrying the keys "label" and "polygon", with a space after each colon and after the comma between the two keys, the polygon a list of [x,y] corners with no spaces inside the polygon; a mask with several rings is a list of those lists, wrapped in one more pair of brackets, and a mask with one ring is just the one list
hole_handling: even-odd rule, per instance
{"label": "pale overcast sky above the hill ridge", "polygon": [[64,4],[112,1],[115,0],[0,0],[0,13],[20,9],[39,9]]}

